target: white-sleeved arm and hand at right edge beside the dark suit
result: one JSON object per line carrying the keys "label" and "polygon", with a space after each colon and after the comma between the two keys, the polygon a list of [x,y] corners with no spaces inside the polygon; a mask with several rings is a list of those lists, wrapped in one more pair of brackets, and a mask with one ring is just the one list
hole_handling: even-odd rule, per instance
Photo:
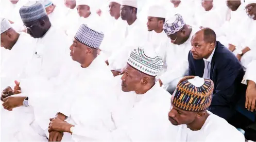
{"label": "white-sleeved arm and hand at right edge beside the dark suit", "polygon": [[253,112],[256,108],[256,74],[255,74],[256,60],[253,60],[245,72],[243,84],[247,85],[245,108]]}

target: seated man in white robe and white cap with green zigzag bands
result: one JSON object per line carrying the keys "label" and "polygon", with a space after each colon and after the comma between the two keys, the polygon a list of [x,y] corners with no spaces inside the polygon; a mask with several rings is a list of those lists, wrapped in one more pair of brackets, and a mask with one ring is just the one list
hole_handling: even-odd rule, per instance
{"label": "seated man in white robe and white cap with green zigzag bands", "polygon": [[[139,47],[132,51],[125,73],[121,77],[122,84],[118,84],[119,88],[116,90],[117,105],[109,117],[115,129],[112,129],[110,124],[101,130],[97,127],[90,129],[91,125],[63,121],[65,116],[58,113],[56,118],[50,119],[52,121],[49,124],[49,131],[69,132],[73,138],[80,138],[83,141],[170,141],[166,119],[170,95],[156,84],[155,78],[162,65],[162,59],[150,47]],[[83,117],[88,120],[86,117],[91,117],[83,114],[87,113],[72,113],[71,118],[75,120],[76,117]]]}

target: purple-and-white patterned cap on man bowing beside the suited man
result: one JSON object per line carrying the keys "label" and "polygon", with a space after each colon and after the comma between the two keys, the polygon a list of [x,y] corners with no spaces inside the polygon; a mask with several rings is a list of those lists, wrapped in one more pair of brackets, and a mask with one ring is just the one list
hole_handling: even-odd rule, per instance
{"label": "purple-and-white patterned cap on man bowing beside the suited man", "polygon": [[181,30],[185,25],[185,22],[180,14],[175,14],[169,18],[163,26],[163,30],[167,35],[175,34]]}

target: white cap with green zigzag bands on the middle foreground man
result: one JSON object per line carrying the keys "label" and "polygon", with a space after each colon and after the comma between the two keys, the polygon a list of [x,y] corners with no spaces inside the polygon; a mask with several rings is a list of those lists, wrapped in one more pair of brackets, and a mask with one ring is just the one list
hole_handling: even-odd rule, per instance
{"label": "white cap with green zigzag bands on the middle foreground man", "polygon": [[162,69],[163,60],[150,46],[138,47],[132,50],[127,64],[147,74],[149,76],[157,76]]}

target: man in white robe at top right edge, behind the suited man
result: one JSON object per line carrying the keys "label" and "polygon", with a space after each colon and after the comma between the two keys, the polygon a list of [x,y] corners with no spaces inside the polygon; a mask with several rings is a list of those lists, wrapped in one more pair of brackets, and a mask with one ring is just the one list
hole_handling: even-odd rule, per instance
{"label": "man in white robe at top right edge, behind the suited man", "polygon": [[[229,3],[238,3],[238,2],[229,2]],[[237,21],[239,20],[240,23],[231,23],[233,15],[231,15],[231,20],[230,20],[230,24],[234,24],[236,26],[236,30],[233,30],[232,35],[231,34],[229,35],[230,36],[229,50],[236,55],[238,60],[240,60],[245,71],[248,64],[250,64],[250,62],[253,60],[255,56],[253,55],[251,50],[253,50],[256,46],[254,42],[256,37],[255,37],[255,33],[250,32],[252,30],[256,30],[255,28],[256,12],[253,12],[252,10],[253,7],[255,7],[255,5],[256,5],[256,1],[246,1],[244,4],[241,2],[241,5],[236,10],[237,12],[239,12],[238,10],[241,10],[241,14],[238,15],[236,13],[237,14],[236,16],[240,16],[243,20],[239,18],[237,19]],[[245,8],[246,11],[241,8]],[[247,12],[247,15],[246,15],[246,12]],[[231,28],[233,29],[234,27],[231,27]]]}

